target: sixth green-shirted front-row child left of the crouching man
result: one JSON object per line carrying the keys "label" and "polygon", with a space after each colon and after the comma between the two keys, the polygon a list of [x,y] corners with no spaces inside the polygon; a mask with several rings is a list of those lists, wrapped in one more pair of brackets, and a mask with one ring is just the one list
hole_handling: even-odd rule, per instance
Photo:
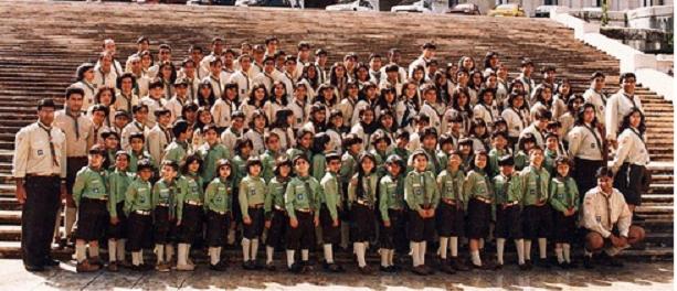
{"label": "sixth green-shirted front-row child left of the crouching man", "polygon": [[[412,246],[413,271],[416,274],[431,274],[425,267],[426,241],[435,234],[435,208],[440,202],[440,191],[435,174],[427,171],[427,154],[423,150],[412,153],[414,171],[406,174],[404,201],[409,205],[409,239]],[[447,269],[451,271],[451,269]]]}

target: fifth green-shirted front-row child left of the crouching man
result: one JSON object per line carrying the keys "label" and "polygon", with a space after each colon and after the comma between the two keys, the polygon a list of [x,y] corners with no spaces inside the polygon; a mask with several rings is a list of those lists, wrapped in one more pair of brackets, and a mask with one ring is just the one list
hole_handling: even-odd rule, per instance
{"label": "fifth green-shirted front-row child left of the crouching man", "polygon": [[[465,236],[465,204],[463,181],[465,174],[461,170],[461,153],[451,151],[446,170],[437,175],[440,188],[440,206],[437,207],[437,234],[440,235],[441,269],[452,273],[453,270],[466,271],[467,268],[458,260],[458,237]],[[447,247],[452,250],[452,258],[446,256]],[[453,268],[449,270],[448,267]]]}

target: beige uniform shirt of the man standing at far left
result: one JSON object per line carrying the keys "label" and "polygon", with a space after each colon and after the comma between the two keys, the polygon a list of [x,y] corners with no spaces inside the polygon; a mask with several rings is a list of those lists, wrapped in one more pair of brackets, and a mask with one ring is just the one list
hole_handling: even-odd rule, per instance
{"label": "beige uniform shirt of the man standing at far left", "polygon": [[[47,128],[38,121],[17,132],[12,159],[14,177],[24,177],[27,174],[57,174],[66,177],[66,137],[56,127],[49,128],[49,134],[45,129]],[[54,155],[50,142],[54,146]]]}

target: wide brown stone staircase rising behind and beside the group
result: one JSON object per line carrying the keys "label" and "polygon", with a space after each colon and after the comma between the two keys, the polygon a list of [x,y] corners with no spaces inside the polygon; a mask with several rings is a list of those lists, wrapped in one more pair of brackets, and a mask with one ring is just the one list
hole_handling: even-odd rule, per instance
{"label": "wide brown stone staircase rising behind and beside the group", "polygon": [[[159,43],[170,43],[174,61],[182,60],[191,44],[209,50],[215,35],[224,36],[233,47],[277,35],[288,53],[305,40],[326,48],[331,62],[348,52],[366,61],[370,52],[384,54],[399,47],[403,63],[409,63],[420,45],[432,40],[444,63],[470,55],[480,64],[493,50],[514,77],[520,57],[530,57],[537,71],[557,66],[558,77],[571,79],[578,93],[584,90],[594,71],[610,76],[607,91],[617,90],[617,60],[575,41],[571,30],[542,19],[82,2],[0,2],[0,257],[20,256],[21,206],[13,197],[11,181],[14,133],[35,120],[36,100],[54,97],[63,103],[63,90],[73,82],[75,68],[96,60],[105,37],[116,41],[123,63],[136,50],[139,35],[148,36],[155,50]],[[654,182],[637,209],[647,218],[646,244],[627,255],[643,260],[673,259],[673,104],[645,88],[638,94],[647,111]]]}

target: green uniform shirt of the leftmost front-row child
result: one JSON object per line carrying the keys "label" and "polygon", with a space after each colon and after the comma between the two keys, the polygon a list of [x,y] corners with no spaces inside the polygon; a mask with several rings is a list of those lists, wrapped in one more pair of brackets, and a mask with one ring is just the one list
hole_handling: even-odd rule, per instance
{"label": "green uniform shirt of the leftmost front-row child", "polygon": [[73,201],[80,206],[82,198],[108,200],[106,171],[84,166],[77,172],[73,184]]}

